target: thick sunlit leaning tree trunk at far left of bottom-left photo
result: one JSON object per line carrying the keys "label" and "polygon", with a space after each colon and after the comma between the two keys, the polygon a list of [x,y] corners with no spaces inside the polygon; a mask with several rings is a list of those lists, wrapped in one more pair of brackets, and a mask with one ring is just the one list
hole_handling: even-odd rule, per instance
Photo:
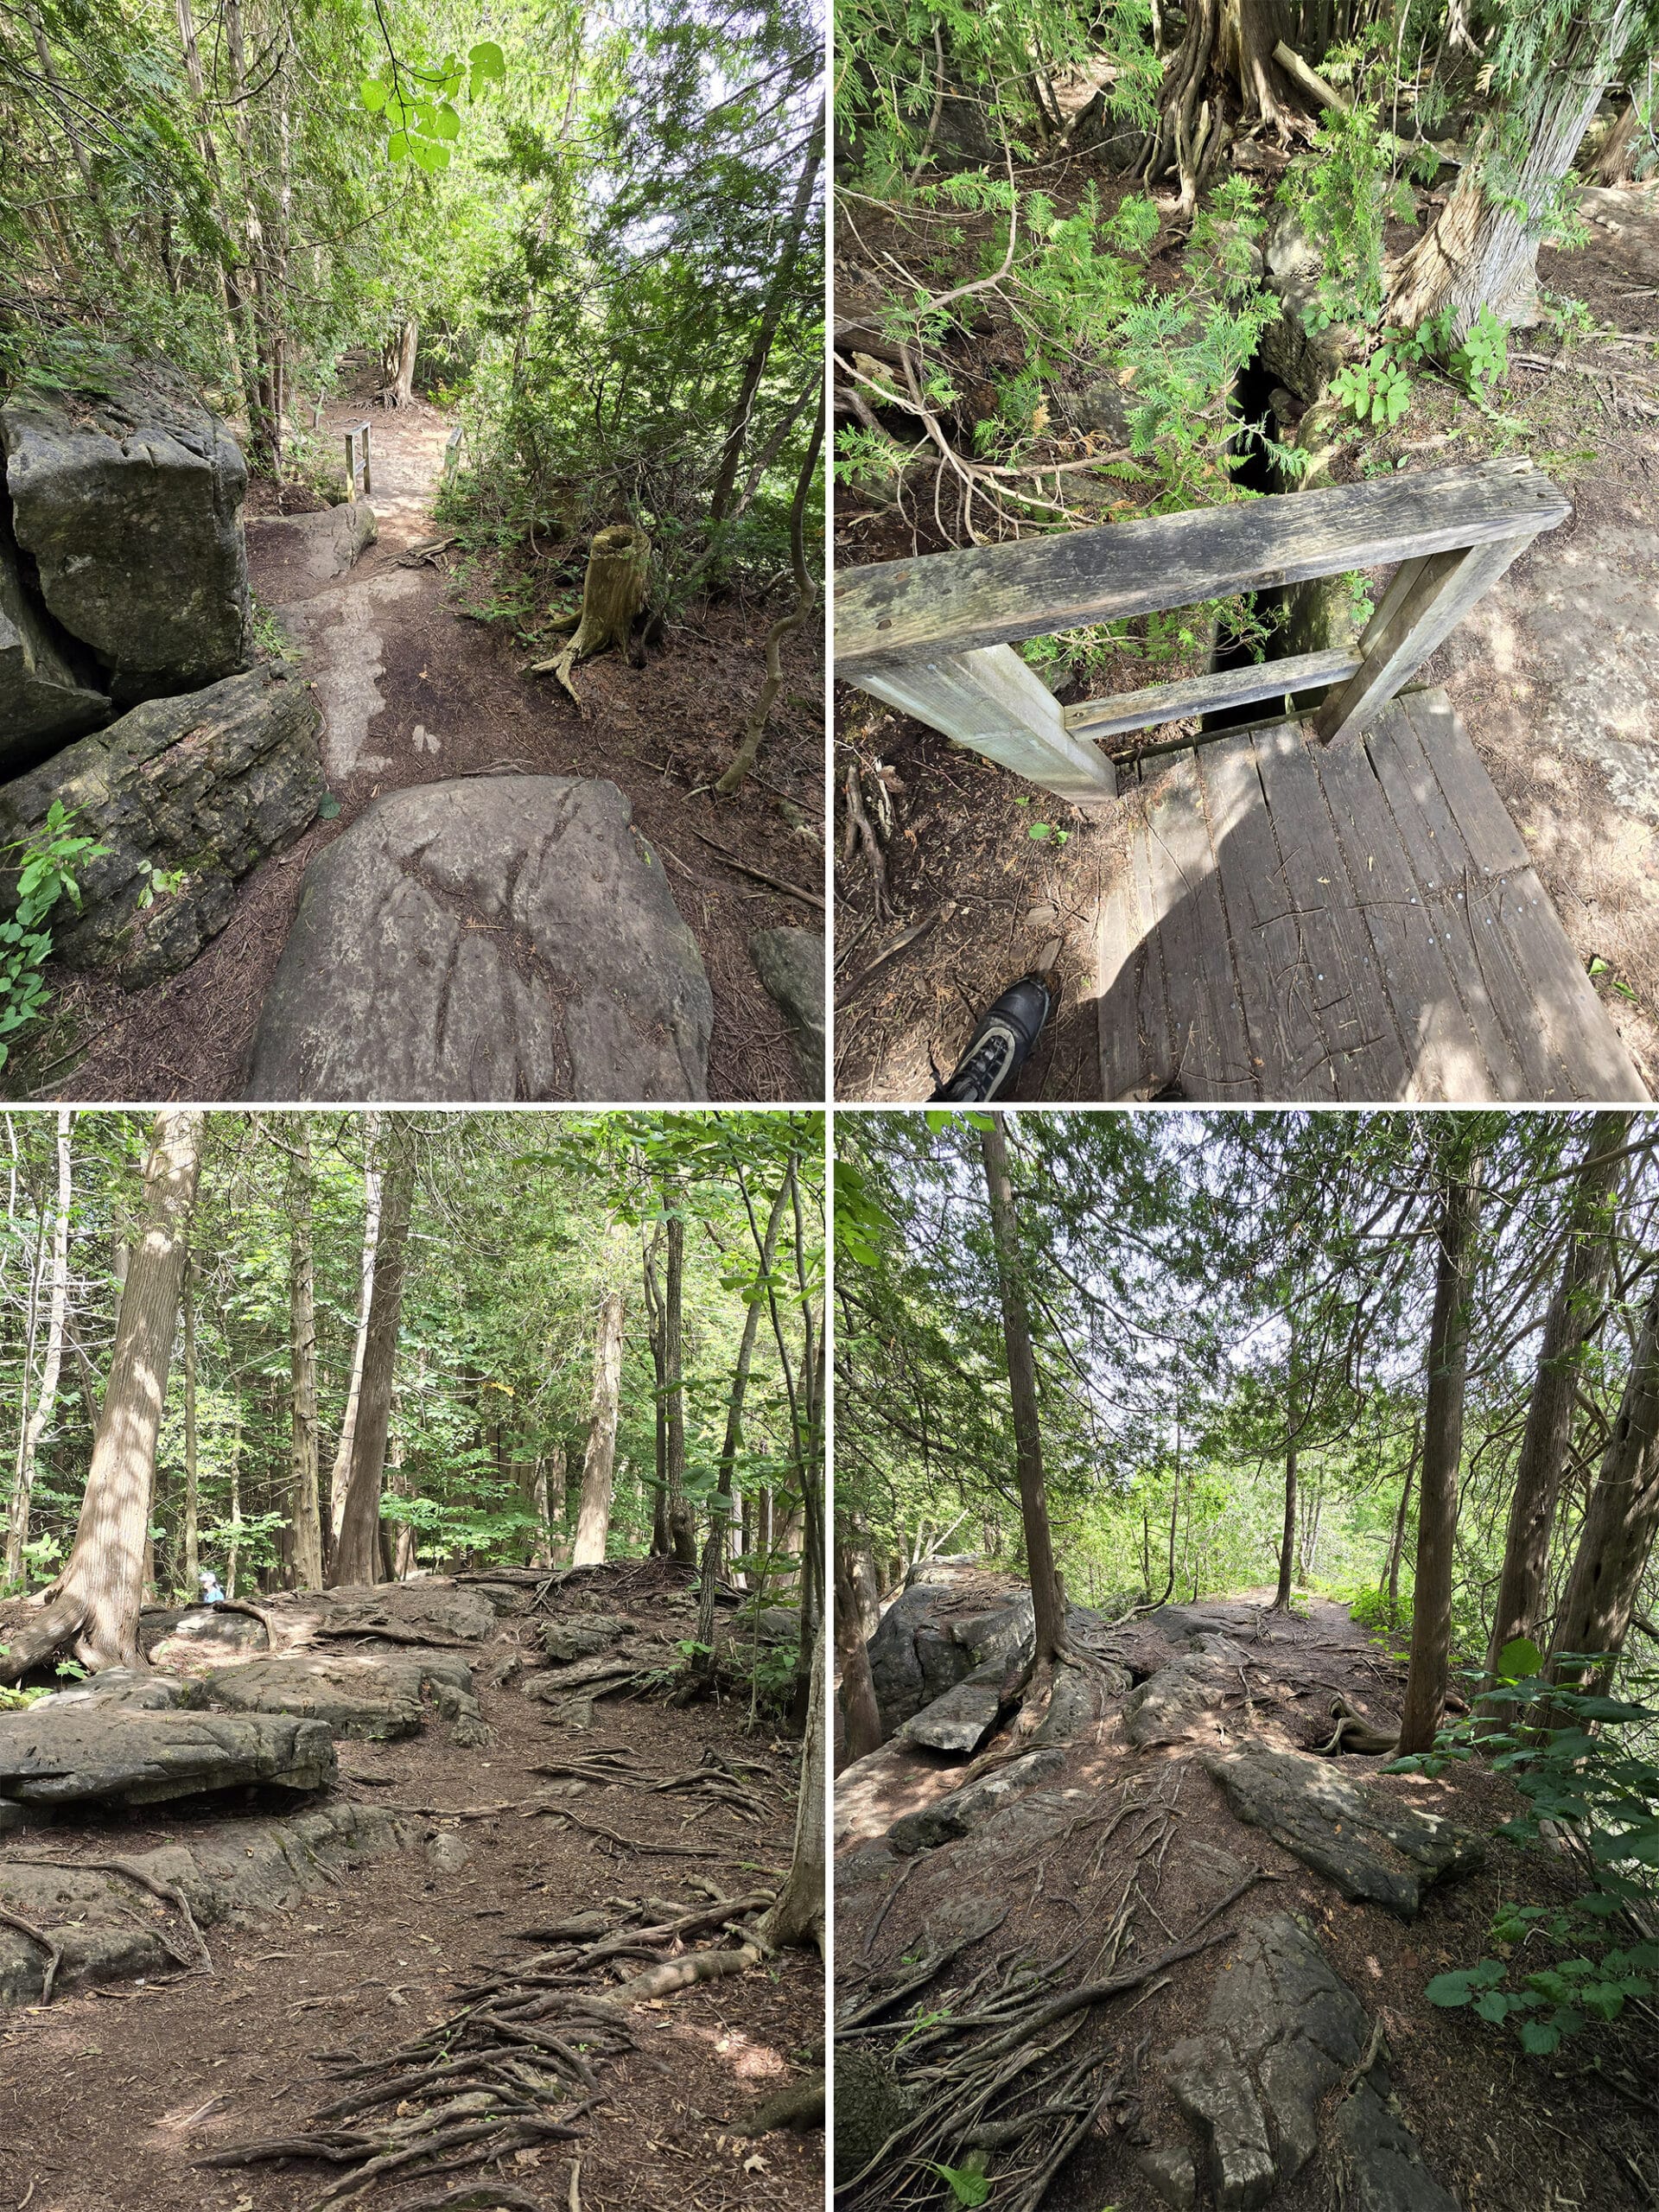
{"label": "thick sunlit leaning tree trunk at far left of bottom-left photo", "polygon": [[75,1544],[62,1575],[42,1593],[40,1617],[11,1632],[0,1681],[18,1681],[62,1646],[93,1672],[144,1666],[137,1624],[155,1440],[179,1327],[201,1130],[201,1113],[168,1110],[155,1119],[144,1164],[144,1234],[128,1259]]}

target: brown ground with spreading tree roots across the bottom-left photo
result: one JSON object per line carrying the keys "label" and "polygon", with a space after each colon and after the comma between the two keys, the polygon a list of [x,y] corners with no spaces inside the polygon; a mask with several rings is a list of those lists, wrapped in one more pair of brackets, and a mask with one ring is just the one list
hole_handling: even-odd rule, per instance
{"label": "brown ground with spreading tree roots across the bottom-left photo", "polygon": [[[586,1728],[571,1725],[584,1699],[524,1694],[557,1672],[544,1619],[626,1619],[626,1650],[677,1668],[684,1579],[641,1562],[586,1571],[540,1610],[504,1613],[484,1641],[442,1648],[471,1670],[489,1741],[465,1721],[451,1734],[431,1710],[418,1734],[341,1741],[338,1781],[305,1809],[376,1807],[405,1849],[361,1863],[319,1851],[305,1882],[276,1885],[281,1902],[204,1911],[210,1973],[164,1960],[142,1980],[71,1980],[51,2004],[24,1993],[0,2008],[4,2201],[818,2205],[818,2132],[739,2132],[821,2066],[816,1953],[745,1953],[741,1971],[675,1986],[690,1953],[743,1947],[787,1869],[796,1747],[750,1728],[743,1701],[675,1708],[637,1679],[628,1694],[599,1686]],[[533,1588],[504,1586],[498,1601],[529,1606]],[[327,1648],[363,1650],[345,1637]],[[161,1663],[179,1666],[177,1646]],[[15,1893],[9,1860],[142,1860],[166,1845],[210,1856],[232,1827],[257,1836],[296,1816],[292,1796],[223,1796],[31,1818],[0,1845],[0,1905]],[[177,1909],[142,1891],[97,1911],[181,1936]],[[60,1907],[60,1924],[73,1918],[73,1902]],[[9,1973],[33,1958],[38,1982],[33,1947],[7,1929],[0,1942]],[[469,2194],[484,2181],[493,2194]]]}

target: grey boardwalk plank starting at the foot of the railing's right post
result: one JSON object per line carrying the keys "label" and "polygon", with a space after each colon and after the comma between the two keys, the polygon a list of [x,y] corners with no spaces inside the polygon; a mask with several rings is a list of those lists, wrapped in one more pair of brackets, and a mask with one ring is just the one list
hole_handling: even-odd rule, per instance
{"label": "grey boardwalk plank starting at the foot of the railing's right post", "polygon": [[1365,748],[1325,752],[1318,779],[1405,1046],[1396,1097],[1482,1104],[1520,1095],[1500,1024],[1489,1018],[1478,1029],[1458,993],[1438,911],[1425,905]]}

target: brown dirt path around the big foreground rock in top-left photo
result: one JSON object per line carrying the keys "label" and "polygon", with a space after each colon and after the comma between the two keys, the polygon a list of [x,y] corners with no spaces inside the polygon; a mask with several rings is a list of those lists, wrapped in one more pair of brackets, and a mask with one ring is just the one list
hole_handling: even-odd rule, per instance
{"label": "brown dirt path around the big foreground rock in top-left photo", "polygon": [[624,790],[637,827],[666,856],[708,969],[710,1097],[799,1097],[785,1024],[754,973],[748,938],[774,925],[818,929],[823,911],[757,887],[699,832],[785,883],[818,889],[823,664],[812,626],[783,655],[785,690],[759,763],[765,781],[717,801],[708,785],[730,759],[743,701],[759,688],[770,613],[741,602],[695,606],[648,668],[628,668],[617,655],[588,664],[577,677],[577,710],[549,677],[522,672],[533,653],[507,624],[465,615],[469,604],[487,604],[482,577],[400,566],[409,544],[434,535],[429,509],[449,418],[420,403],[385,411],[341,400],[327,407],[325,425],[338,434],[365,414],[380,535],[349,573],[307,575],[294,522],[257,511],[248,520],[259,606],[307,653],[338,814],[248,876],[230,922],[181,975],[133,995],[88,978],[53,978],[58,1022],[40,1060],[51,1071],[51,1055],[75,1037],[88,1051],[73,1075],[35,1095],[239,1097],[305,863],[383,792],[513,768],[608,776]]}

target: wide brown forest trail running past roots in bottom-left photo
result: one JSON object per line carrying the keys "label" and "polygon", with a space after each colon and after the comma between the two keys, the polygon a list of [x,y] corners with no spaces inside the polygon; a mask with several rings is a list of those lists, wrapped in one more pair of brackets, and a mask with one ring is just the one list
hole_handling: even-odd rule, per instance
{"label": "wide brown forest trail running past roots in bottom-left photo", "polygon": [[[542,1621],[557,1621],[577,1641],[604,1637],[602,1619],[626,1621],[635,1639],[626,1648],[655,1646],[664,1668],[677,1666],[672,1646],[688,1632],[688,1608],[695,1608],[695,1593],[684,1584],[686,1575],[664,1562],[617,1562],[553,1588],[542,1582],[538,1604],[538,1584],[522,1575],[500,1584],[473,1577],[471,1586],[491,1593],[500,1617],[482,1639],[434,1632],[429,1659],[451,1674],[456,1659],[467,1666],[491,1741],[456,1741],[473,1736],[465,1714],[451,1725],[431,1710],[418,1734],[341,1741],[336,1783],[307,1794],[305,1807],[345,1816],[365,1807],[365,1818],[396,1820],[405,1847],[387,1851],[380,1843],[361,1863],[349,1863],[352,1851],[294,1854],[276,1867],[272,1896],[234,1918],[215,1920],[208,1887],[175,1871],[179,1847],[219,1851],[221,1860],[246,1851],[254,1860],[259,1829],[294,1820],[292,1792],[281,1794],[288,1803],[274,1803],[279,1794],[272,1792],[272,1803],[252,1805],[243,1796],[254,1798],[254,1792],[226,1792],[234,1798],[230,1816],[221,1809],[223,1798],[175,1798],[128,1814],[62,1812],[46,1827],[7,1834],[0,1902],[24,1916],[31,1907],[18,1900],[29,1878],[9,1878],[9,1860],[49,1854],[66,1863],[108,1854],[142,1860],[173,1847],[168,1869],[195,1896],[212,1973],[177,1971],[155,1953],[159,1933],[170,1931],[177,1940],[184,1931],[177,1911],[148,1893],[128,1889],[113,1902],[104,1891],[91,1913],[93,1927],[84,1905],[46,1911],[35,1902],[42,1920],[62,1924],[71,1951],[77,1942],[115,1940],[122,1929],[137,1929],[159,1958],[159,1971],[135,1958],[122,1978],[100,1986],[84,1986],[66,1971],[62,1991],[42,2006],[38,1947],[0,1929],[0,1986],[13,1991],[13,2002],[0,2008],[0,2194],[9,2203],[27,2201],[31,2212],[150,2212],[155,2205],[301,2212],[327,2190],[349,2188],[349,2168],[321,2159],[239,2168],[197,2161],[234,2143],[292,2135],[316,2108],[352,2090],[356,2081],[338,2077],[343,2062],[336,2057],[330,2070],[321,2055],[387,2059],[449,2022],[467,2002],[462,1993],[480,1982],[491,1982],[491,2002],[507,2006],[511,1969],[535,1953],[544,1964],[549,1958],[546,1938],[522,1931],[555,1929],[584,1913],[593,1920],[580,1922],[580,1933],[591,1936],[599,1927],[626,1929],[635,1905],[644,1905],[635,1931],[670,1911],[697,1913],[701,1907],[703,1931],[684,1942],[672,1938],[668,1947],[659,1940],[624,1951],[611,1969],[622,1978],[666,1951],[730,1944],[708,1909],[710,1891],[699,1885],[712,1882],[717,1896],[739,1898],[774,1887],[787,1869],[794,1747],[765,1730],[750,1732],[743,1708],[730,1703],[672,1708],[653,1694],[611,1697],[599,1688],[604,1701],[593,1708],[591,1725],[580,1728],[562,1719],[568,1708],[522,1694],[526,1683],[549,1683],[557,1674],[540,1650]],[[376,1586],[374,1595],[385,1590],[453,1593],[456,1586],[434,1579]],[[268,1604],[276,1617],[294,1610],[279,1599]],[[294,1604],[303,1613],[307,1601]],[[181,1619],[201,1650],[204,1608]],[[208,1617],[215,1637],[239,1630],[259,1644],[261,1630],[246,1615]],[[334,1639],[330,1661],[336,1652],[365,1648],[374,1652],[374,1641]],[[199,1672],[201,1659],[181,1661],[186,1650],[175,1632],[157,1657]],[[422,1657],[407,1641],[378,1650],[396,1659]],[[215,1663],[221,1657],[223,1646]],[[241,1657],[257,1659],[259,1650],[243,1648]],[[228,1679],[234,1681],[234,1672]],[[568,1672],[580,1677],[582,1661]],[[453,1719],[453,1708],[447,1710]],[[630,1781],[588,1783],[538,1772],[560,1763],[615,1765]],[[732,1770],[743,1778],[734,1783]],[[692,1785],[650,1792],[655,1781],[699,1772],[710,1778],[710,1794]],[[752,1794],[761,1814],[737,1807],[734,1794]],[[303,1885],[294,1878],[296,1867]],[[135,1980],[135,1969],[146,1978]],[[597,1964],[573,1964],[566,1973],[602,1995]],[[33,2000],[18,1986],[24,1975],[33,1975]],[[745,2205],[807,2212],[818,2205],[814,2135],[754,2139],[734,2132],[757,2104],[812,2073],[816,2059],[807,2053],[818,2048],[821,2057],[816,1955],[787,1951],[765,1971],[617,2011],[630,2048],[599,2057],[599,2046],[591,2046],[597,2084],[575,2099],[584,2106],[573,2115],[577,2137],[542,2143],[520,2137],[520,2148],[509,2141],[491,2168],[491,2179],[504,2183],[491,2203],[566,2212],[577,2201],[571,2161],[580,2157],[586,2212],[661,2212],[668,2203],[692,2201],[706,2212]],[[520,2057],[511,2057],[504,2046],[509,2055],[484,2059],[478,2073],[487,2079],[507,2079],[515,2066],[522,2073],[526,2048],[520,2044]],[[566,2101],[560,2095],[553,2110]],[[396,2110],[407,2121],[425,2104],[416,2090],[400,2097]],[[356,2126],[387,2117],[383,2108]],[[467,2159],[460,2168],[478,2179]],[[462,2192],[462,2172],[453,2166],[442,2179],[394,2172],[361,2201],[369,2212],[403,2212],[442,2201],[449,2188]],[[456,2201],[482,2203],[465,2192]]]}

